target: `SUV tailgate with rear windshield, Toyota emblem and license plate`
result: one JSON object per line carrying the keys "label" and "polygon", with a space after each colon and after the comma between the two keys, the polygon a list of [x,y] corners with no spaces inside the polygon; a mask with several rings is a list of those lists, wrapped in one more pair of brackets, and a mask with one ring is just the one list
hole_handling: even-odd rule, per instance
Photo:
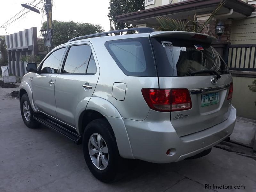
{"label": "SUV tailgate with rear windshield, Toyota emblem and license plate", "polygon": [[[187,88],[192,108],[171,112],[179,136],[202,131],[227,119],[232,77],[225,62],[208,42],[168,37],[151,38],[159,88]],[[221,78],[214,73],[216,71]],[[204,71],[204,72],[202,72]],[[206,71],[206,72],[205,72]]]}

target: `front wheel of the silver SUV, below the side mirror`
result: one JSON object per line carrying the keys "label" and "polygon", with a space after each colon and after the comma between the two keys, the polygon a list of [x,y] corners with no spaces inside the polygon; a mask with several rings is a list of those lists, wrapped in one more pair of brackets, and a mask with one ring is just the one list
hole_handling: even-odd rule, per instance
{"label": "front wheel of the silver SUV, below the side mirror", "polygon": [[[27,110],[26,110],[27,108]],[[28,99],[28,94],[24,94],[20,100],[20,112],[23,119],[24,124],[31,129],[35,129],[40,126],[40,123],[33,119],[33,115],[35,112],[31,108],[30,101]],[[27,113],[28,112],[28,113]]]}

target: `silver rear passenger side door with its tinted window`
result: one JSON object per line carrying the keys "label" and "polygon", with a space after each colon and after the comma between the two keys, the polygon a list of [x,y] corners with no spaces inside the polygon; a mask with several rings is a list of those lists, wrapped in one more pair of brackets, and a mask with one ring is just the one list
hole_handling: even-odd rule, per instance
{"label": "silver rear passenger side door with its tinted window", "polygon": [[76,112],[83,107],[80,103],[86,107],[99,74],[90,44],[74,44],[68,48],[55,84],[56,113],[61,121],[75,127]]}

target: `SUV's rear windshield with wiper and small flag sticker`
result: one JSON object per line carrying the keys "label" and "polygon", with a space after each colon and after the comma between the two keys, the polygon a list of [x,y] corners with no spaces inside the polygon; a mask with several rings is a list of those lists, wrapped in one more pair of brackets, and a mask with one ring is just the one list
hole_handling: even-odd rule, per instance
{"label": "SUV's rear windshield with wiper and small flag sticker", "polygon": [[159,77],[202,76],[198,71],[228,74],[226,63],[209,44],[170,38],[151,38]]}

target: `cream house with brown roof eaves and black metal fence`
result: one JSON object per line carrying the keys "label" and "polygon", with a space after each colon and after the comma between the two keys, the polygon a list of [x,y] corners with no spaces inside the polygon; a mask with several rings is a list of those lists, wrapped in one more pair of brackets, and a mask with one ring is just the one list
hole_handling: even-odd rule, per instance
{"label": "cream house with brown roof eaves and black metal fence", "polygon": [[[207,20],[221,0],[145,0],[145,10],[116,16],[133,27],[157,28],[157,16],[180,20]],[[213,44],[226,61],[234,83],[232,104],[237,115],[256,120],[256,94],[248,85],[256,78],[256,0],[226,0],[203,33],[216,36],[215,28],[224,23],[225,32]]]}

